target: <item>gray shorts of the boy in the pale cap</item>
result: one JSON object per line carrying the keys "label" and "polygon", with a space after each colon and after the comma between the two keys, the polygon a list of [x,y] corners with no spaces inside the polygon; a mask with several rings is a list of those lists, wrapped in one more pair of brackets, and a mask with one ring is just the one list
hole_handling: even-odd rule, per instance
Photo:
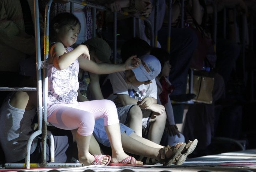
{"label": "gray shorts of the boy in the pale cap", "polygon": [[[117,113],[118,113],[118,118],[120,123],[127,124],[128,113],[133,106],[134,105],[117,107]],[[142,109],[142,114],[143,114],[142,128],[143,129],[146,129],[148,127],[148,122],[149,122],[151,113],[152,113],[151,110]]]}

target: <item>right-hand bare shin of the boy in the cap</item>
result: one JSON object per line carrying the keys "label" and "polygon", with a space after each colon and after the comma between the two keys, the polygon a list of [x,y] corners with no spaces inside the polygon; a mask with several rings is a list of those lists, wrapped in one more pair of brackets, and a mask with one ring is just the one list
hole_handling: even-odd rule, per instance
{"label": "right-hand bare shin of the boy in the cap", "polygon": [[150,123],[149,133],[148,133],[149,140],[157,144],[160,144],[162,134],[164,133],[164,129],[165,129],[165,122],[166,122],[165,112],[162,113],[161,115],[155,115],[155,113],[153,112],[149,120],[149,123]]}

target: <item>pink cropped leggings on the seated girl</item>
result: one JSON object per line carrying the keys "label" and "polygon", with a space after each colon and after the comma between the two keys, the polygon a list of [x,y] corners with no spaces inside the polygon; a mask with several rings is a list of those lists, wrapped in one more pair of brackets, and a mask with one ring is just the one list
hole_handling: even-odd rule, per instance
{"label": "pink cropped leggings on the seated girl", "polygon": [[119,123],[117,109],[110,100],[93,100],[76,104],[53,104],[48,106],[47,121],[61,129],[78,128],[78,134],[91,135],[95,120],[104,118],[104,125]]}

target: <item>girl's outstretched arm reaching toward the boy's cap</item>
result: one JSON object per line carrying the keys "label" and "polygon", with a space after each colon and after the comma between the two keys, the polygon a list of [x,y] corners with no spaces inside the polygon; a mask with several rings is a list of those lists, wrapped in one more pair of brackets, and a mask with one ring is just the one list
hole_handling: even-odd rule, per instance
{"label": "girl's outstretched arm reaching toward the boy's cap", "polygon": [[95,74],[109,74],[126,71],[137,68],[140,64],[140,60],[136,56],[129,57],[126,63],[123,64],[95,63],[94,61],[85,59],[84,57],[79,57],[78,61],[82,70]]}

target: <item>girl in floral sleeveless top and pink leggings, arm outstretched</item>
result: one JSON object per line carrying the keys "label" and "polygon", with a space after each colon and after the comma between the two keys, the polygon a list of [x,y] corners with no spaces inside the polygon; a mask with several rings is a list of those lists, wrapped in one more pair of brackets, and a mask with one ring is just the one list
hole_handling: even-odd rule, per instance
{"label": "girl in floral sleeveless top and pink leggings, arm outstretched", "polygon": [[[79,162],[84,165],[142,166],[142,162],[128,156],[122,148],[114,103],[109,100],[77,101],[79,68],[96,74],[107,74],[138,67],[139,60],[132,56],[125,64],[95,63],[90,60],[86,45],[70,48],[76,42],[79,32],[80,22],[72,13],[60,13],[50,23],[53,43],[49,47],[47,120],[57,128],[75,131],[73,134],[78,146]],[[104,118],[112,158],[89,153],[97,118]]]}

